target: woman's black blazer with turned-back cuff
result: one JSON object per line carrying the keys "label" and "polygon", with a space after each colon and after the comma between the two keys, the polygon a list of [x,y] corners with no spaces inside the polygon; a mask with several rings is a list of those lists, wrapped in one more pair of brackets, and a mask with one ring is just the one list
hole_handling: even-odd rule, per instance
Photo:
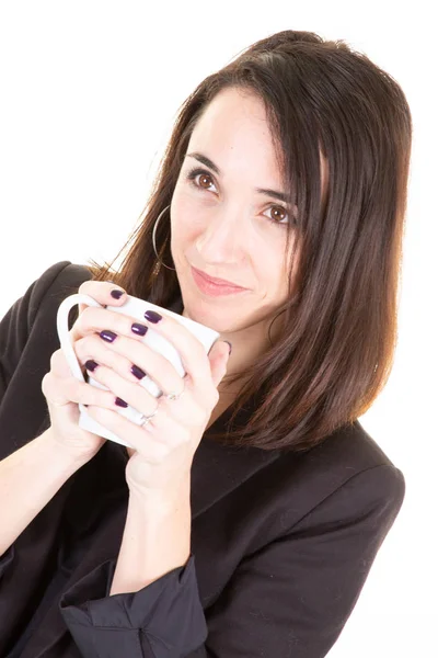
{"label": "woman's black blazer with turned-back cuff", "polygon": [[[83,265],[56,263],[1,320],[0,460],[49,426],[41,384],[59,348],[56,311],[88,279]],[[170,308],[182,311],[181,296]],[[22,658],[321,658],[405,492],[358,421],[301,455],[224,447],[206,431],[192,468],[186,567],[108,597],[126,461],[107,441],[0,558],[0,656],[21,637]]]}

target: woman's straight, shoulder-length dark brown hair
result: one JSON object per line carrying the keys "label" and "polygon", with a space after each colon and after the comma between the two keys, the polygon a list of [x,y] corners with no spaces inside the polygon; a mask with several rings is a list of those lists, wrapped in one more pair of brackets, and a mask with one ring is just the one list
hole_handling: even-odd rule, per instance
{"label": "woman's straight, shoulder-length dark brown hair", "polygon": [[[158,262],[152,230],[171,204],[194,126],[226,88],[255,93],[265,105],[286,192],[297,201],[298,227],[290,230],[300,259],[293,286],[289,274],[290,297],[276,316],[285,314],[281,332],[244,371],[228,431],[215,439],[307,451],[357,420],[392,370],[411,112],[397,82],[343,41],[291,30],[258,41],[183,103],[145,217],[128,240],[134,243],[116,272],[90,261],[95,281],[112,279],[128,294],[163,307],[175,297],[176,273]],[[325,203],[320,150],[328,169]],[[159,223],[157,247],[172,265],[168,214]],[[255,395],[250,421],[243,431],[231,431],[235,413]]]}

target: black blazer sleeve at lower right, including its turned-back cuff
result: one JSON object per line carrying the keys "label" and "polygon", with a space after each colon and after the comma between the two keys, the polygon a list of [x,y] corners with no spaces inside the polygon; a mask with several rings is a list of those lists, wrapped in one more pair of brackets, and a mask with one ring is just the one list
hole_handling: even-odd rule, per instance
{"label": "black blazer sleeve at lower right, including its turned-back cuff", "polygon": [[353,476],[287,534],[245,556],[204,613],[191,556],[185,568],[114,597],[114,564],[105,563],[64,595],[61,614],[85,658],[323,658],[404,492],[392,465]]}

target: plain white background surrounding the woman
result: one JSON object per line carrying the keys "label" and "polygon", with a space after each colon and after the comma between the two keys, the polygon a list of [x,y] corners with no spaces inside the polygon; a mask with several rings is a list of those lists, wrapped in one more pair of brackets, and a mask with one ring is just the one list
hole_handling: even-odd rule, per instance
{"label": "plain white background surrounding the woman", "polygon": [[438,655],[437,58],[427,8],[0,3],[0,317],[53,263],[117,253],[147,202],[177,107],[254,41],[286,29],[345,39],[402,86],[414,146],[399,348],[385,390],[360,420],[403,470],[406,497],[331,658]]}

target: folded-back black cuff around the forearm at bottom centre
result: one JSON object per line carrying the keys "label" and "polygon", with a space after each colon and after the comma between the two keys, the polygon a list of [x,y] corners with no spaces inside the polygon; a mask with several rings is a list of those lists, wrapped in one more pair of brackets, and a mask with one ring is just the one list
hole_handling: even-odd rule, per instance
{"label": "folded-back black cuff around the forearm at bottom centre", "polygon": [[82,656],[188,656],[207,638],[195,556],[143,589],[108,595],[115,560],[107,560],[61,597],[59,609]]}

